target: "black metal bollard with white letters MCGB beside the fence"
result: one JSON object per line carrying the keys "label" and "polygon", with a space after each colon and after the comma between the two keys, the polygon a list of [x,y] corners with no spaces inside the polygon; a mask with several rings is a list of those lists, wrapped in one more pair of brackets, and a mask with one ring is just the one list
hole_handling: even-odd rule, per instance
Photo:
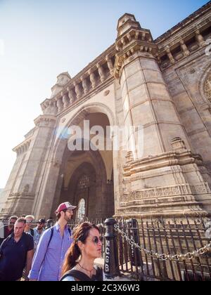
{"label": "black metal bollard with white letters MCGB beside the fence", "polygon": [[105,221],[106,255],[104,273],[107,279],[113,279],[120,275],[117,235],[114,228],[115,223],[116,221],[114,218],[108,218]]}

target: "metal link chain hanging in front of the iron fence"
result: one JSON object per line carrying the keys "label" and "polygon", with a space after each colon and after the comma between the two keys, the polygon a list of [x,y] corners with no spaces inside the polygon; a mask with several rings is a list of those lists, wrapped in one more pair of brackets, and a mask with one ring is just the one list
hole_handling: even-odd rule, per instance
{"label": "metal link chain hanging in front of the iron fence", "polygon": [[158,254],[153,250],[148,251],[147,249],[144,249],[141,246],[139,246],[139,244],[136,244],[134,242],[134,239],[131,239],[131,238],[127,237],[126,232],[123,232],[122,230],[120,230],[119,225],[114,225],[114,227],[115,227],[115,231],[119,232],[120,235],[122,235],[122,237],[125,240],[127,240],[127,242],[129,242],[129,244],[132,247],[135,247],[136,249],[139,249],[139,251],[143,251],[148,256],[151,256],[153,258],[160,259],[160,260],[163,260],[163,261],[185,261],[186,259],[191,261],[193,258],[198,258],[199,256],[202,256],[202,255],[204,255],[206,253],[211,252],[211,242],[210,242],[210,244],[207,244],[205,247],[200,248],[197,251],[188,252],[187,254],[175,254],[175,255]]}

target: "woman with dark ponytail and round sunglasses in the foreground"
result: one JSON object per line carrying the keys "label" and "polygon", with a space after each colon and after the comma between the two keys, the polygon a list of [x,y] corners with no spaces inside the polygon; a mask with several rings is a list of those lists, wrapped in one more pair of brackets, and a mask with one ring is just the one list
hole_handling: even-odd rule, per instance
{"label": "woman with dark ponytail and round sunglasses in the foreground", "polygon": [[63,263],[61,281],[103,281],[103,270],[94,265],[101,257],[102,239],[96,225],[84,222],[73,232]]}

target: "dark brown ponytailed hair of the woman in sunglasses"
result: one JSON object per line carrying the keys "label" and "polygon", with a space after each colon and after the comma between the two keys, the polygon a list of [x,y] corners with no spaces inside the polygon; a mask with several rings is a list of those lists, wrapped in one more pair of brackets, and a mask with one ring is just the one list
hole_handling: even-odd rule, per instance
{"label": "dark brown ponytailed hair of the woman in sunglasses", "polygon": [[68,270],[71,270],[72,268],[74,268],[75,265],[77,264],[76,261],[81,255],[81,251],[78,247],[77,242],[81,241],[83,244],[85,244],[87,237],[89,237],[89,232],[93,228],[98,230],[98,232],[100,232],[99,228],[96,225],[88,223],[88,222],[84,222],[80,225],[77,225],[77,227],[73,230],[74,240],[65,256],[65,261],[63,263],[63,268],[61,272],[62,276],[65,273],[67,273]]}

